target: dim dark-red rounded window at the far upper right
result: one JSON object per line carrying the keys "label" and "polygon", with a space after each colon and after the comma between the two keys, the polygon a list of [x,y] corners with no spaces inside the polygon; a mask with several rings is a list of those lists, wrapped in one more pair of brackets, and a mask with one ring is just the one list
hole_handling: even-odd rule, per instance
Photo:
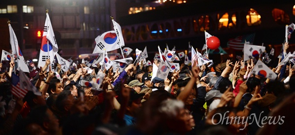
{"label": "dim dark-red rounded window at the far upper right", "polygon": [[274,21],[280,25],[287,25],[289,24],[290,18],[289,15],[285,13],[285,11],[278,9],[278,8],[274,8],[271,11],[272,17],[274,19]]}

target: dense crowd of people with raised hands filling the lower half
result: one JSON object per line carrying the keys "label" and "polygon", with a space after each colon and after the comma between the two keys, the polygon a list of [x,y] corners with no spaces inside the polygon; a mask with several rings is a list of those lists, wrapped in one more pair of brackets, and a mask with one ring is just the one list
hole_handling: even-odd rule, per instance
{"label": "dense crowd of people with raised hands filling the lower half", "polygon": [[[12,59],[9,71],[0,74],[0,135],[295,134],[293,63],[272,68],[278,77],[270,80],[251,74],[253,59],[176,62],[179,70],[151,80],[153,68],[143,62],[121,72],[85,64],[62,72],[57,64],[56,73],[48,59],[27,74],[38,91],[17,98],[11,83],[19,71]],[[105,75],[99,90],[81,84],[96,82],[99,73]]]}

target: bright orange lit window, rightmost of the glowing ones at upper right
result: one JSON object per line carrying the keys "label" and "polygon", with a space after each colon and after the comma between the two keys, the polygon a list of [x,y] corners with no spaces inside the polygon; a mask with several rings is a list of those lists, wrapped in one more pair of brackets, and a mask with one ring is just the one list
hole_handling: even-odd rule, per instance
{"label": "bright orange lit window, rightmost of the glowing ones at upper right", "polygon": [[250,8],[250,10],[248,11],[246,19],[248,26],[258,26],[261,24],[261,16],[253,8]]}

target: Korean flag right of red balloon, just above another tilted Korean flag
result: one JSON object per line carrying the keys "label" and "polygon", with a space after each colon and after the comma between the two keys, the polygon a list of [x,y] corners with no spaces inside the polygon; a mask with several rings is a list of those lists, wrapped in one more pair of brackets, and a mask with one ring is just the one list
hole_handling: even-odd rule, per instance
{"label": "Korean flag right of red balloon, just above another tilted Korean flag", "polygon": [[255,58],[265,52],[266,47],[255,45],[244,45],[244,61]]}

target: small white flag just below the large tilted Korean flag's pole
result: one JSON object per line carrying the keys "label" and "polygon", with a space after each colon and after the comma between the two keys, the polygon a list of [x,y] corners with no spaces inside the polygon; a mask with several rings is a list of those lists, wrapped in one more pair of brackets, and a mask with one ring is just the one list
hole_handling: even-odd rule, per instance
{"label": "small white flag just below the large tilted Korean flag's pole", "polygon": [[132,57],[113,60],[113,72],[116,72],[117,69],[119,69],[119,72],[122,72],[129,64],[132,63],[132,61]]}

